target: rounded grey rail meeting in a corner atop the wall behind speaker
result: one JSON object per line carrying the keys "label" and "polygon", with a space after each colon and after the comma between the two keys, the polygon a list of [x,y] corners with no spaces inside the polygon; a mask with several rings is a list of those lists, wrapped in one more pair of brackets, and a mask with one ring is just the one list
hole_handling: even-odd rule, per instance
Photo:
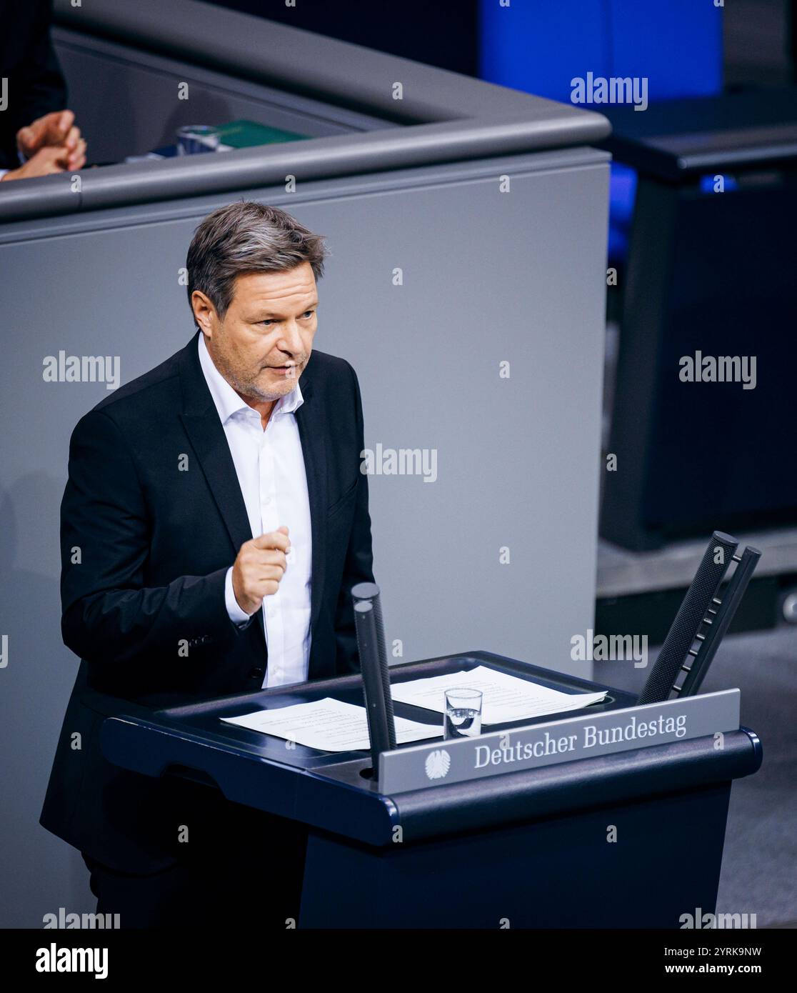
{"label": "rounded grey rail meeting in a corner atop the wall behind speaker", "polygon": [[[152,55],[199,63],[235,79],[277,86],[287,94],[406,126],[193,156],[190,161],[108,166],[82,173],[77,191],[66,175],[21,181],[0,191],[0,219],[241,190],[284,183],[286,175],[307,181],[575,147],[598,141],[609,131],[606,119],[593,111],[195,0],[172,0],[169,5],[103,0],[91,9],[73,8],[68,0],[61,0],[57,12],[67,28],[99,35],[129,52],[141,49],[142,65]],[[403,87],[402,99],[394,99],[397,83]],[[111,113],[118,95],[110,94]],[[138,95],[128,90],[122,97]],[[161,107],[155,115],[165,122],[158,127],[163,130],[174,123],[184,110],[175,92],[171,112]]]}

